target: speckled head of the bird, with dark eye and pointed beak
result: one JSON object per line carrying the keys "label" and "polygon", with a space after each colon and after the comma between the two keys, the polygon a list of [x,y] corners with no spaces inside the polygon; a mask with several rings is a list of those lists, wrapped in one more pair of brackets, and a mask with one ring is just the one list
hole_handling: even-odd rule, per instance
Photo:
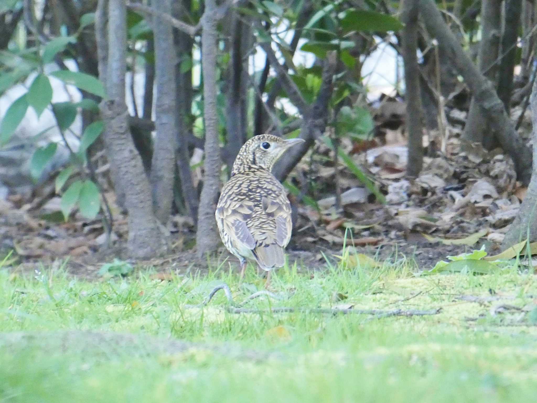
{"label": "speckled head of the bird, with dark eye and pointed beak", "polygon": [[271,134],[253,136],[242,146],[233,164],[232,174],[259,166],[271,171],[281,155],[293,145],[303,143],[302,138],[280,138]]}

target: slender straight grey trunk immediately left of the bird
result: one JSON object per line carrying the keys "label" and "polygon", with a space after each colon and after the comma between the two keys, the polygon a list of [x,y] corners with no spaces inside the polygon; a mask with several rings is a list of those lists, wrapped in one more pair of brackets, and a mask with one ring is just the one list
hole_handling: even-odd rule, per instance
{"label": "slender straight grey trunk immediately left of the bird", "polygon": [[216,111],[216,4],[215,0],[205,1],[205,12],[201,33],[201,68],[204,86],[205,123],[205,163],[204,184],[201,190],[198,231],[196,233],[197,252],[200,258],[216,250],[219,235],[214,212],[220,191],[220,144],[218,136],[218,115]]}

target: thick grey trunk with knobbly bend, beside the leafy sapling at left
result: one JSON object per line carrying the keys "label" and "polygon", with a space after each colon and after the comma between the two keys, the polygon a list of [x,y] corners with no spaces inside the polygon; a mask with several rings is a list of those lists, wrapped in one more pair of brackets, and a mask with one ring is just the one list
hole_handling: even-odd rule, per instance
{"label": "thick grey trunk with knobbly bend, beside the leafy sapling at left", "polygon": [[[108,13],[106,14],[106,10]],[[113,30],[105,34],[106,15]],[[153,214],[149,181],[142,160],[136,152],[128,124],[125,103],[127,25],[126,6],[122,0],[100,0],[96,13],[99,72],[103,77],[108,100],[100,109],[105,130],[103,141],[111,171],[121,178],[128,211],[127,248],[134,258],[147,258],[165,250],[165,243]],[[106,74],[105,74],[106,71]]]}

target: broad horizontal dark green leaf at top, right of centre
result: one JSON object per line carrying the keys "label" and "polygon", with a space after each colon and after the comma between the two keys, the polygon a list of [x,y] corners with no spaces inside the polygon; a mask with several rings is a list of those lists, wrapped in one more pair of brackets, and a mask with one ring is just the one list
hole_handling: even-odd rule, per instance
{"label": "broad horizontal dark green leaf at top, right of centre", "polygon": [[375,11],[350,9],[340,21],[345,33],[399,31],[404,25],[397,18]]}

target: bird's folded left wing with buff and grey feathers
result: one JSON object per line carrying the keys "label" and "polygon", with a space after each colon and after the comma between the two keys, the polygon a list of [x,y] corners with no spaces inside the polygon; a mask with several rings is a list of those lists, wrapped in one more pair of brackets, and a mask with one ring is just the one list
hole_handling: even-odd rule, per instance
{"label": "bird's folded left wing with buff and grey feathers", "polygon": [[216,221],[219,227],[230,237],[238,250],[253,250],[256,240],[246,226],[253,214],[253,203],[249,200],[224,201],[216,209]]}

